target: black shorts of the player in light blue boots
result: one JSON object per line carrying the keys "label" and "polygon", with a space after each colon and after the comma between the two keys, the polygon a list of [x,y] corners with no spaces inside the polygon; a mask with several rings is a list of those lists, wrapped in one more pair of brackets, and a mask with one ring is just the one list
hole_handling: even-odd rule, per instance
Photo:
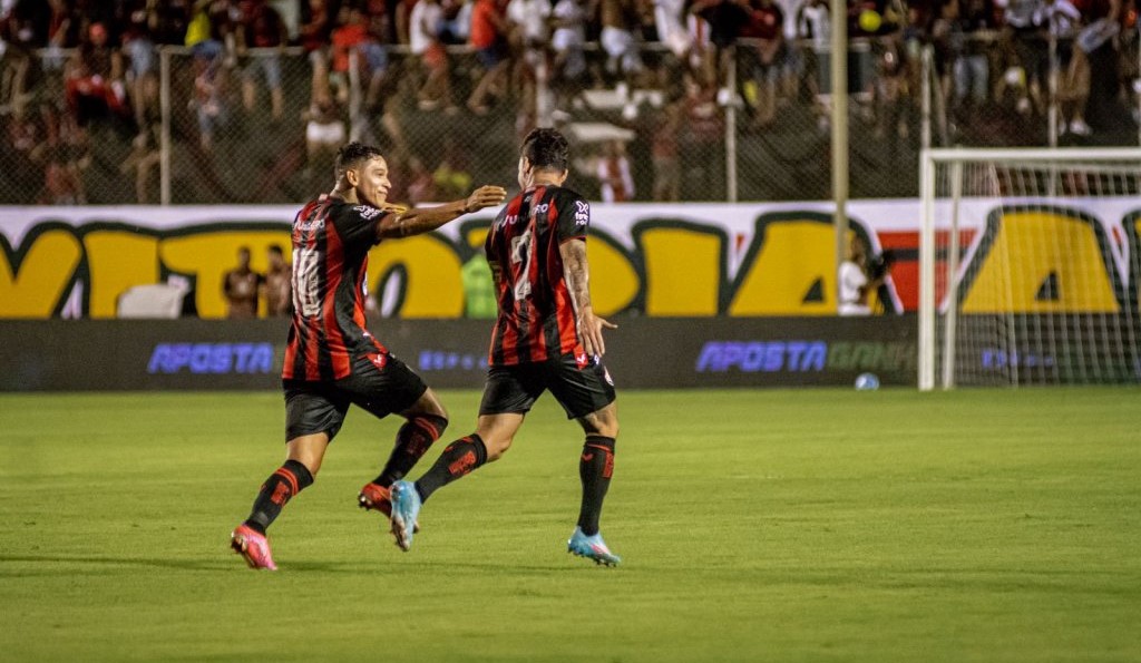
{"label": "black shorts of the player in light blue boots", "polygon": [[558,359],[491,366],[479,404],[479,415],[529,412],[543,391],[550,389],[567,413],[578,419],[614,403],[614,380],[598,359],[580,366],[573,354]]}

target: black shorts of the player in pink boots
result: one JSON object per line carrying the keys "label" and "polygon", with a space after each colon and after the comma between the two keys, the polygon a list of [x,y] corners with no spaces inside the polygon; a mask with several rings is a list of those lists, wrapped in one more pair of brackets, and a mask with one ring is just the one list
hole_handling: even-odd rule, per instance
{"label": "black shorts of the player in pink boots", "polygon": [[316,432],[326,432],[332,440],[350,403],[378,419],[403,412],[423,396],[428,385],[393,355],[362,355],[353,359],[353,372],[346,378],[332,382],[282,380],[282,388],[289,442]]}

